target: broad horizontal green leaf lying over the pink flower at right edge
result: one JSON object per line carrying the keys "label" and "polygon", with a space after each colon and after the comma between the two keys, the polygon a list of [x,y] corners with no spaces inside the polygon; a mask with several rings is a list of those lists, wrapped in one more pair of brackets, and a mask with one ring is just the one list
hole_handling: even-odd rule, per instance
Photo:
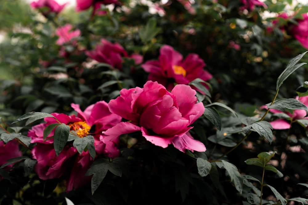
{"label": "broad horizontal green leaf lying over the pink flower at right edge", "polygon": [[287,109],[291,110],[307,110],[307,106],[303,104],[301,101],[296,100],[294,98],[284,98],[278,101],[275,101],[272,105],[267,106],[267,108],[280,110],[282,112],[286,111]]}

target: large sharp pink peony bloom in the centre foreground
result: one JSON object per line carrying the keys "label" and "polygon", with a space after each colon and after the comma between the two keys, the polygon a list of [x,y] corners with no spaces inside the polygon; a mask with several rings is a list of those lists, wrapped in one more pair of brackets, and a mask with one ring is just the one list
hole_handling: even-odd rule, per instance
{"label": "large sharp pink peony bloom in the centre foreground", "polygon": [[121,134],[141,131],[142,136],[162,148],[173,144],[185,152],[204,152],[203,143],[194,140],[188,127],[204,112],[202,103],[196,103],[196,91],[188,85],[176,85],[171,93],[163,85],[148,81],[144,88],[122,89],[120,96],[111,100],[111,112],[131,122],[121,122],[103,132],[111,139]]}

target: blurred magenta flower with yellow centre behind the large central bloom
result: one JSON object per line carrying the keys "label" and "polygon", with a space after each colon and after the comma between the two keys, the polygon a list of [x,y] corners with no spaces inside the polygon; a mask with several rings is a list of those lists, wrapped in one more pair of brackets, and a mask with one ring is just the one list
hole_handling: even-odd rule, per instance
{"label": "blurred magenta flower with yellow centre behind the large central bloom", "polygon": [[189,54],[183,61],[183,56],[169,45],[160,48],[159,60],[150,60],[141,67],[149,72],[148,81],[157,81],[168,90],[174,88],[174,84],[185,84],[200,78],[207,81],[212,75],[204,70],[204,61],[194,53]]}

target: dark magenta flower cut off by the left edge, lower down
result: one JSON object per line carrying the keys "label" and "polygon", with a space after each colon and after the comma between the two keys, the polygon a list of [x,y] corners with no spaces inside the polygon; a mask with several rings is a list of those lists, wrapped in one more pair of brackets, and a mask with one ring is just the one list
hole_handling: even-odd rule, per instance
{"label": "dark magenta flower cut off by the left edge, lower down", "polygon": [[[19,143],[15,140],[9,141],[4,145],[3,141],[0,141],[0,166],[6,163],[6,160],[20,157],[22,153],[19,151]],[[6,166],[6,168],[11,168],[13,164]]]}

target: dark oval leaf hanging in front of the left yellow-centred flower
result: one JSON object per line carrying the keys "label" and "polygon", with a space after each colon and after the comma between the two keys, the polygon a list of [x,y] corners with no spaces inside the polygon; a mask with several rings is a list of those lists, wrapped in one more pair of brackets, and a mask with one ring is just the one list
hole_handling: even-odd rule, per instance
{"label": "dark oval leaf hanging in front of the left yellow-centred flower", "polygon": [[66,124],[60,124],[55,128],[54,133],[54,148],[56,155],[59,156],[68,140],[70,134],[70,127]]}

